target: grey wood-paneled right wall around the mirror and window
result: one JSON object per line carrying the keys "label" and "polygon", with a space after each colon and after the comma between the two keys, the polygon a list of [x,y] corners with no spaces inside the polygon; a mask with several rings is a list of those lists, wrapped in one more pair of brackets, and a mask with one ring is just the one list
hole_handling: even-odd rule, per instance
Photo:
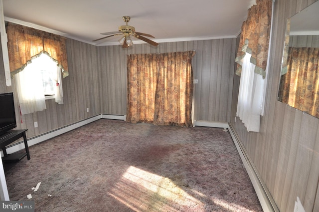
{"label": "grey wood-paneled right wall around the mirror and window", "polygon": [[239,77],[234,77],[231,125],[281,212],[319,211],[319,119],[277,101],[286,20],[315,0],[276,0],[265,115],[260,133],[247,132],[236,116]]}

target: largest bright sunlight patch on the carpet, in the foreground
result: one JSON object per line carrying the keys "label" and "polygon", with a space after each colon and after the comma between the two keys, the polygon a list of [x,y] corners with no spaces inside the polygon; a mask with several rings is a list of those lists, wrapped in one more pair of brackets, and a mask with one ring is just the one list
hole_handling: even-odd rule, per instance
{"label": "largest bright sunlight patch on the carpet, in the foreground", "polygon": [[132,166],[109,195],[136,212],[179,212],[203,207],[168,178]]}

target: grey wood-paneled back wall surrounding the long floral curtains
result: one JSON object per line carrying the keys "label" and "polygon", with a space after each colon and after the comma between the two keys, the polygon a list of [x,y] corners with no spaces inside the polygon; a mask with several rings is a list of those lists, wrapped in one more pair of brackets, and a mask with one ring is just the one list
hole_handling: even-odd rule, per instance
{"label": "grey wood-paneled back wall surrounding the long floral curtains", "polygon": [[192,60],[194,79],[194,117],[196,120],[229,122],[232,98],[236,38],[185,42],[135,44],[99,47],[102,72],[102,113],[126,114],[127,55],[196,51]]}

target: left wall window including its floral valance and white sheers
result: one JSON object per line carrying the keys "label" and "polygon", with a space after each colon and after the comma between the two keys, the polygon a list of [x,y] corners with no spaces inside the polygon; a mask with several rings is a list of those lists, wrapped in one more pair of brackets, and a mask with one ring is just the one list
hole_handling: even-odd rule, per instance
{"label": "left wall window including its floral valance and white sheers", "polygon": [[63,104],[61,72],[63,78],[69,75],[66,38],[11,22],[6,33],[10,73],[21,113],[46,109],[45,98]]}

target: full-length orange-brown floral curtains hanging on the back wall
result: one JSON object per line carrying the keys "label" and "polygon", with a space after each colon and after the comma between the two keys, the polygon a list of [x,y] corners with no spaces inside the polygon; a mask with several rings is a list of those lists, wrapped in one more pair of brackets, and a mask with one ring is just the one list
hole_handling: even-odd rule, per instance
{"label": "full-length orange-brown floral curtains hanging on the back wall", "polygon": [[127,121],[191,126],[194,51],[128,55]]}

